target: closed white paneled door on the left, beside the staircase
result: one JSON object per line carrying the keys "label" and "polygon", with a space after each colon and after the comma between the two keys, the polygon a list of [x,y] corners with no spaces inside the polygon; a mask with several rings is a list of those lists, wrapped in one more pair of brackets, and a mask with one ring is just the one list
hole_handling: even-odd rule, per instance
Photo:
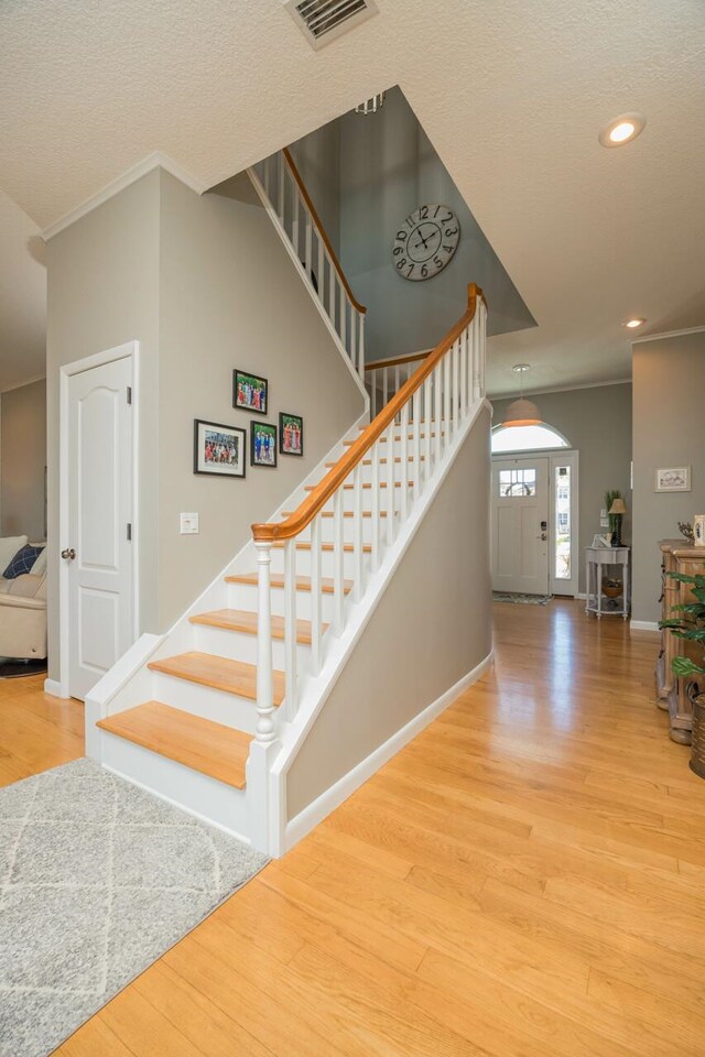
{"label": "closed white paneled door on the left, beside the staircase", "polygon": [[68,691],[85,699],[134,641],[132,360],[68,379]]}

